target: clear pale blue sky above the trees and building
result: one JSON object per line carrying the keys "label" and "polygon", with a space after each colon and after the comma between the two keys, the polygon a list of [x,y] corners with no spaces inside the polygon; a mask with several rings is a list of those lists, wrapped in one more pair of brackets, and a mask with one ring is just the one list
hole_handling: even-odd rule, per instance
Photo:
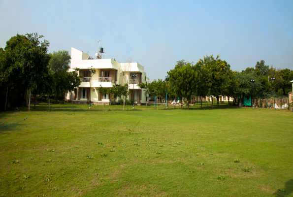
{"label": "clear pale blue sky above the trees and building", "polygon": [[0,0],[0,46],[37,32],[49,52],[74,47],[105,58],[132,58],[153,80],[176,61],[220,54],[233,70],[257,61],[293,69],[293,0],[99,1]]}

